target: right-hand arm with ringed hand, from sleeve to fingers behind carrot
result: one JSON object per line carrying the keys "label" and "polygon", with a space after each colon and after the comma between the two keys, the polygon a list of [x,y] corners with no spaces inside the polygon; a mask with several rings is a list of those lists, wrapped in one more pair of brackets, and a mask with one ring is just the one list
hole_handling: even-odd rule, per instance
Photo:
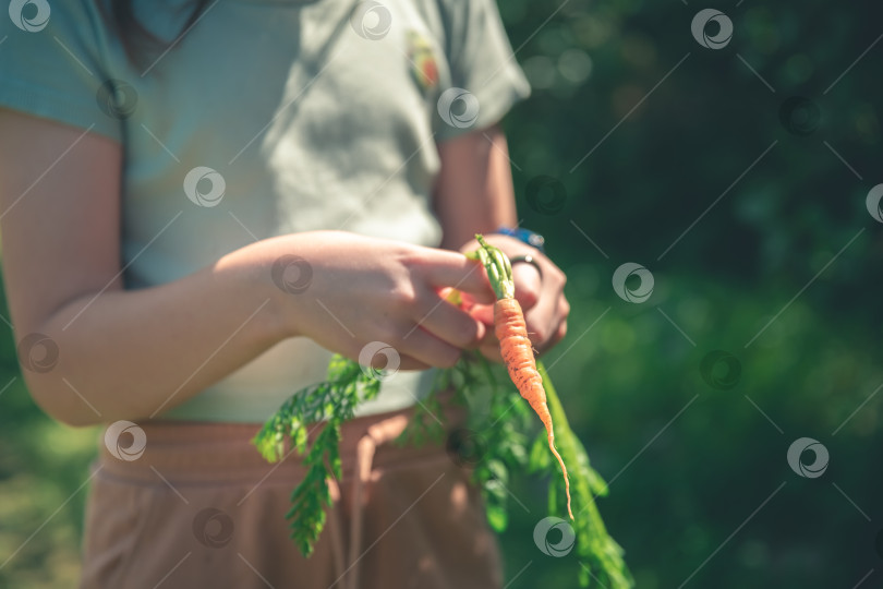
{"label": "right-hand arm with ringed hand, from sleeve to fingers behind carrot", "polygon": [[[534,248],[506,236],[487,235],[518,223],[505,134],[498,127],[476,130],[439,144],[438,151],[442,171],[436,184],[435,207],[444,230],[443,247],[474,250],[477,247],[474,235],[485,233],[488,242],[510,257],[533,255],[543,268],[542,279],[529,264],[517,264],[512,277],[533,346],[540,351],[547,350],[567,333],[570,305],[564,296],[566,276]],[[473,315],[493,325],[491,306],[480,305]],[[493,332],[487,330],[482,351],[499,359]]]}

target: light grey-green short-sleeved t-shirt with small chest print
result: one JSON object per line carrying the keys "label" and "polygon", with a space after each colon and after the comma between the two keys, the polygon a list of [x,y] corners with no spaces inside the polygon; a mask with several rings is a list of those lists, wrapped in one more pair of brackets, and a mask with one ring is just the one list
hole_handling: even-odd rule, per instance
{"label": "light grey-green short-sleeved t-shirt with small chest print", "polygon": [[[95,2],[13,0],[0,15],[0,105],[124,147],[129,289],[290,232],[438,245],[436,143],[530,93],[493,0],[220,0],[179,39],[188,4],[136,2],[173,41],[138,67]],[[290,338],[165,416],[264,421],[329,357]],[[399,373],[361,413],[411,405],[428,381]]]}

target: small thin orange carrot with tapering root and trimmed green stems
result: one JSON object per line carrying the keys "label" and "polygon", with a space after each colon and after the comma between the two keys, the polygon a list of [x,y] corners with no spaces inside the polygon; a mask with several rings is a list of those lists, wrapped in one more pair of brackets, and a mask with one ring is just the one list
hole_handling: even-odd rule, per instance
{"label": "small thin orange carrot with tapering root and trimmed green stems", "polygon": [[497,302],[494,304],[494,332],[499,340],[503,361],[518,392],[540,416],[540,420],[546,428],[548,447],[558,459],[558,464],[561,465],[565,478],[567,513],[570,519],[573,519],[573,512],[570,509],[570,480],[567,476],[567,467],[558,450],[555,449],[555,432],[552,425],[552,413],[546,402],[546,392],[543,388],[543,377],[536,370],[536,359],[528,337],[524,313],[515,299],[512,267],[499,249],[489,245],[482,236],[475,236],[475,238],[481,244],[477,257],[484,264],[491,286],[497,296]]}

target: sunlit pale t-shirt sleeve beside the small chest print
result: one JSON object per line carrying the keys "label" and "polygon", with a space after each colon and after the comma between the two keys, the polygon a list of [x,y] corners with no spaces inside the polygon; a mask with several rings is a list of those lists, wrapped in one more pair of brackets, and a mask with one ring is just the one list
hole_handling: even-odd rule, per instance
{"label": "sunlit pale t-shirt sleeve beside the small chest print", "polygon": [[450,68],[450,86],[440,88],[434,119],[440,142],[499,122],[531,88],[495,0],[439,2]]}

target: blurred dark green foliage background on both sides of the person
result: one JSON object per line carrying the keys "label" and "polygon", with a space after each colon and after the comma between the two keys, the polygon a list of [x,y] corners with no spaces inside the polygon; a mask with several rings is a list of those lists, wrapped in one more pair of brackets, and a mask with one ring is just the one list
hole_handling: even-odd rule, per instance
{"label": "blurred dark green foliage background on both sides of the person", "polygon": [[[883,45],[849,68],[883,11],[710,4],[734,23],[719,50],[693,39],[692,2],[501,3],[534,87],[506,122],[519,208],[573,308],[546,365],[610,483],[600,507],[639,588],[854,587],[871,569],[860,587],[879,587],[883,232],[866,195]],[[783,124],[794,96],[818,128]],[[646,302],[614,292],[626,262],[652,272]],[[97,432],[40,413],[0,327],[0,387],[15,377],[0,393],[0,587],[69,587]],[[700,372],[714,350],[741,369],[727,389],[710,384],[725,365]],[[786,461],[803,436],[830,450],[817,479]],[[512,589],[574,586],[572,563],[533,542],[544,490],[511,488]]]}

